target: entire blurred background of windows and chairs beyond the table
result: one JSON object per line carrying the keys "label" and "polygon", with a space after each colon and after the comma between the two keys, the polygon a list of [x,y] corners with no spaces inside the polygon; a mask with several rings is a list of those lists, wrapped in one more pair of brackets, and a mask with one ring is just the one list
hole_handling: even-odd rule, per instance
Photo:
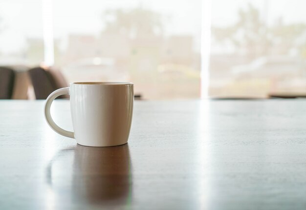
{"label": "entire blurred background of windows and chairs beyond the table", "polygon": [[141,99],[306,96],[306,1],[1,0],[0,98],[131,81]]}

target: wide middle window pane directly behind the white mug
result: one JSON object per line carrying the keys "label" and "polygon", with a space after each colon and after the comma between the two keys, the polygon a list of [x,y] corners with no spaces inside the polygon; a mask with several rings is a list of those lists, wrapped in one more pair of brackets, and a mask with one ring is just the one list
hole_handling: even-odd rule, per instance
{"label": "wide middle window pane directly behind the white mug", "polygon": [[145,99],[200,97],[201,0],[53,2],[55,64],[69,82],[131,81]]}

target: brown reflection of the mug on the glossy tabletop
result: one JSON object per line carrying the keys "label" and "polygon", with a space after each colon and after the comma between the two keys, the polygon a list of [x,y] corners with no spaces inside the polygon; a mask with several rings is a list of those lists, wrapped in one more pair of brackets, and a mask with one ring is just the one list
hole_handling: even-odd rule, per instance
{"label": "brown reflection of the mug on the glossy tabletop", "polygon": [[[53,192],[56,194],[57,191],[71,191],[71,194],[67,193],[67,197],[59,198],[59,200],[65,202],[66,199],[71,199],[76,204],[129,203],[131,200],[131,159],[128,144],[117,147],[76,145],[72,151],[70,186],[65,186],[66,182],[65,184],[64,182],[56,183],[52,176],[53,173],[57,173],[54,170],[59,170],[62,174],[61,180],[68,178],[66,174],[70,172],[67,172],[68,167],[65,166],[69,164],[66,162],[69,158],[63,159],[67,150],[64,150],[63,154],[60,152],[56,155],[56,157],[62,157],[60,164],[62,167],[52,166],[61,160],[50,161],[47,177]],[[58,182],[62,182],[61,180],[58,179]]]}

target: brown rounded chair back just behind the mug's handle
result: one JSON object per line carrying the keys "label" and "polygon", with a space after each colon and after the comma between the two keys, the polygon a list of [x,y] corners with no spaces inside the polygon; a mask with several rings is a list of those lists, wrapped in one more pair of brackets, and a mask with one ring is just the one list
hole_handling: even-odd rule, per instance
{"label": "brown rounded chair back just behind the mug's handle", "polygon": [[[53,68],[42,67],[32,68],[28,71],[32,81],[36,99],[46,99],[53,91],[68,87],[62,73]],[[61,95],[58,98],[68,98],[68,95]]]}

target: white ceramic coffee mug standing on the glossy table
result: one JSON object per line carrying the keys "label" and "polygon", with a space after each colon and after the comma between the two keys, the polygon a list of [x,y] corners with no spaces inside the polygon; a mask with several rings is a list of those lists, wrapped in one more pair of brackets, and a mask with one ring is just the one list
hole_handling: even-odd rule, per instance
{"label": "white ceramic coffee mug standing on the glossy table", "polygon": [[[74,132],[55,124],[50,114],[52,101],[70,95]],[[134,88],[128,82],[75,82],[51,93],[44,104],[44,116],[58,134],[75,138],[91,147],[108,147],[128,142],[133,114]]]}

